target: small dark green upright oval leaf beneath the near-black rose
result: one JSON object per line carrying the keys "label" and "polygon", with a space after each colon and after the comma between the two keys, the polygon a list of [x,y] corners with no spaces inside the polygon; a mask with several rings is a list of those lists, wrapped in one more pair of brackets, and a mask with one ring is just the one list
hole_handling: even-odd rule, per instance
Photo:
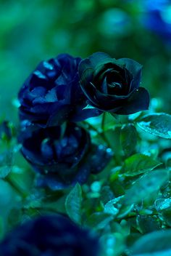
{"label": "small dark green upright oval leaf beneath the near-black rose", "polygon": [[133,124],[125,124],[120,132],[120,143],[125,156],[130,156],[135,151],[137,132]]}

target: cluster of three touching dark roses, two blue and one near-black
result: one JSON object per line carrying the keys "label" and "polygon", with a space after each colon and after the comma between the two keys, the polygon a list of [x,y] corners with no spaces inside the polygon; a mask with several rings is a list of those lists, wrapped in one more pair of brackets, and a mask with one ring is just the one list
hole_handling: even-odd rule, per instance
{"label": "cluster of three touching dark roses, two blue and one near-black", "polygon": [[81,121],[105,111],[148,109],[149,93],[139,87],[141,68],[103,52],[83,60],[62,54],[37,66],[18,96],[21,151],[38,174],[37,185],[58,190],[83,184],[106,167],[112,151],[94,144]]}

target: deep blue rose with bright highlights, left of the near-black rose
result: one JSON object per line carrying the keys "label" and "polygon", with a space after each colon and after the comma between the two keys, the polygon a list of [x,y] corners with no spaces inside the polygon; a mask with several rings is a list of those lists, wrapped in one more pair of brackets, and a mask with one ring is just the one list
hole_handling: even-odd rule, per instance
{"label": "deep blue rose with bright highlights, left of the near-black rose", "polygon": [[99,111],[83,109],[87,104],[79,86],[80,60],[62,54],[38,65],[18,95],[22,121],[49,127],[99,115]]}

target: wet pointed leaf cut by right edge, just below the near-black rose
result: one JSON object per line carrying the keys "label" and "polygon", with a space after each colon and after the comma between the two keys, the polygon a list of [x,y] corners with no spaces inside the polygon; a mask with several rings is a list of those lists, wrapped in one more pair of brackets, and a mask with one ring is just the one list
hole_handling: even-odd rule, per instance
{"label": "wet pointed leaf cut by right edge, just below the near-black rose", "polygon": [[171,139],[171,115],[167,113],[153,113],[144,116],[137,124],[151,135]]}

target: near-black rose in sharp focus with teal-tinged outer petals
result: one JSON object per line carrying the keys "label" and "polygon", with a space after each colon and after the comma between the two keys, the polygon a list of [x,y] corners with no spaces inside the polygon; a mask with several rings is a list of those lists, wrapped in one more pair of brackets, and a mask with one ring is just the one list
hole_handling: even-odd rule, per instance
{"label": "near-black rose in sharp focus with teal-tinged outer petals", "polygon": [[139,87],[142,66],[96,52],[80,62],[80,86],[88,103],[101,111],[130,114],[149,108],[149,93]]}

